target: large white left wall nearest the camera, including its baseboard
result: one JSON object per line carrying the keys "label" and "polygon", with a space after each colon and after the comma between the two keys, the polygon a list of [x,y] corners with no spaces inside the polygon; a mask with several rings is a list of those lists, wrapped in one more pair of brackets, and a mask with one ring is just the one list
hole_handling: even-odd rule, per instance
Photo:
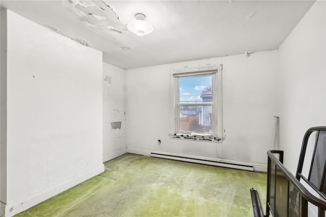
{"label": "large white left wall nearest the camera, including its baseboard", "polygon": [[7,58],[12,215],[104,170],[102,53],[8,11]]}

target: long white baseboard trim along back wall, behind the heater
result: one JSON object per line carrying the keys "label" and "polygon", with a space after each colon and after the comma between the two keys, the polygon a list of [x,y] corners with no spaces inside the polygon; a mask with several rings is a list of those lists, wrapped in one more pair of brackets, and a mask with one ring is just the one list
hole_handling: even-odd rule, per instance
{"label": "long white baseboard trim along back wall, behind the heater", "polygon": [[[151,156],[151,153],[156,153],[156,154],[163,154],[163,155],[173,155],[173,156],[177,156],[177,157],[187,157],[187,158],[193,158],[193,159],[199,159],[199,160],[218,161],[218,162],[221,162],[222,164],[224,164],[225,167],[227,167],[227,164],[248,165],[248,166],[253,166],[253,170],[256,172],[267,172],[267,164],[262,164],[259,162],[247,162],[247,161],[241,161],[241,160],[222,159],[222,158],[206,157],[206,156],[200,156],[200,155],[181,154],[181,153],[157,151],[157,150],[150,150],[150,149],[140,149],[140,148],[133,148],[133,147],[127,147],[127,152],[133,153],[133,154],[142,154],[145,156]],[[223,166],[223,165],[221,165],[221,166]]]}

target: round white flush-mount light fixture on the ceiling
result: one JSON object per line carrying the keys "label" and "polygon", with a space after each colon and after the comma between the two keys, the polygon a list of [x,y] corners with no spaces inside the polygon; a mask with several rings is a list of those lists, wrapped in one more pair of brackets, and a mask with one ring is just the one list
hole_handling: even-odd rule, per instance
{"label": "round white flush-mount light fixture on the ceiling", "polygon": [[148,35],[153,32],[153,26],[149,22],[146,22],[146,16],[144,14],[134,15],[136,20],[128,22],[127,29],[138,36]]}

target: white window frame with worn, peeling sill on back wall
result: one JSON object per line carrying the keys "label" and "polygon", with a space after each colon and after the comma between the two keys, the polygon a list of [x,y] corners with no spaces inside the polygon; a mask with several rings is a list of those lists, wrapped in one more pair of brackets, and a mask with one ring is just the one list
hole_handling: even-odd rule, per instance
{"label": "white window frame with worn, peeling sill on back wall", "polygon": [[[173,133],[171,138],[194,139],[203,141],[222,142],[222,65],[209,68],[195,68],[185,70],[174,70],[173,76]],[[179,103],[180,87],[179,79],[196,76],[212,76],[212,102],[211,103]],[[180,106],[212,106],[212,133],[195,133],[179,131],[179,107]]]}

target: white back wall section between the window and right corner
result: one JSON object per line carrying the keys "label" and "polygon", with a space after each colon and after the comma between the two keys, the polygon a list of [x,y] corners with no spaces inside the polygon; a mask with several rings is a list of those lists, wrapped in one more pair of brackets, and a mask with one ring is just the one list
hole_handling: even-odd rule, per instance
{"label": "white back wall section between the window and right corner", "polygon": [[276,119],[277,51],[223,59],[223,156],[267,162]]}

